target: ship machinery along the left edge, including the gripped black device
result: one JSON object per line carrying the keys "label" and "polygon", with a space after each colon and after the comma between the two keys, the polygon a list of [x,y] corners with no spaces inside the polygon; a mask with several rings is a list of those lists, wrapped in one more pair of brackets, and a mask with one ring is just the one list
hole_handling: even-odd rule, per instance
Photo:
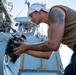
{"label": "ship machinery along the left edge, including the gripped black device", "polygon": [[24,36],[12,28],[7,4],[12,6],[12,3],[0,0],[0,75],[18,75],[20,58],[13,53],[13,48],[18,46],[14,41],[21,41]]}

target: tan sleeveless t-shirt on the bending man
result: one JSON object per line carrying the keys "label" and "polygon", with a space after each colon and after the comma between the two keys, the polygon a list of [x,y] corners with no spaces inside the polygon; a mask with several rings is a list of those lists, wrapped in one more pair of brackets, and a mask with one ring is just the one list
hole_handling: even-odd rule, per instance
{"label": "tan sleeveless t-shirt on the bending man", "polygon": [[61,8],[66,15],[62,43],[73,49],[76,43],[76,11],[67,6],[57,5],[56,7]]}

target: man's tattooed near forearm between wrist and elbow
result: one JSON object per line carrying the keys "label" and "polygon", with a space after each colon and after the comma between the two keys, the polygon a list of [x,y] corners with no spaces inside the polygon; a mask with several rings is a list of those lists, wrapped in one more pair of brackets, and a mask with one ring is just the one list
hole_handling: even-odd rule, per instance
{"label": "man's tattooed near forearm between wrist and elbow", "polygon": [[42,51],[42,52],[56,51],[55,45],[49,42],[49,40],[39,44],[27,45],[27,50]]}

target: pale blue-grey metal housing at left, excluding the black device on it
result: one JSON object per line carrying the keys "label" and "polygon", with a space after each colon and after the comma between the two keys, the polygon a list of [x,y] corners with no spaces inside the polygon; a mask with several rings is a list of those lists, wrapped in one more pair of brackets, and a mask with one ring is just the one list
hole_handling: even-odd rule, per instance
{"label": "pale blue-grey metal housing at left, excluding the black device on it", "polygon": [[17,75],[19,72],[19,62],[10,61],[11,57],[6,55],[6,49],[11,35],[9,33],[0,33],[0,75]]}

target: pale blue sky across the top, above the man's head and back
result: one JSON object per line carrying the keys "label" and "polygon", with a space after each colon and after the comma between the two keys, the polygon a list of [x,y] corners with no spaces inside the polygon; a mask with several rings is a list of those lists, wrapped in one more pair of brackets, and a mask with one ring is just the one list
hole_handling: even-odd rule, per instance
{"label": "pale blue sky across the top, above the man's head and back", "polygon": [[[51,8],[54,5],[66,5],[76,10],[76,0],[27,0],[27,1],[29,1],[30,4],[35,2],[44,3],[46,4],[47,8]],[[13,18],[17,16],[18,17],[27,16],[28,7],[25,4],[25,0],[10,0],[10,2],[12,2],[13,4],[13,9],[11,11]]]}

